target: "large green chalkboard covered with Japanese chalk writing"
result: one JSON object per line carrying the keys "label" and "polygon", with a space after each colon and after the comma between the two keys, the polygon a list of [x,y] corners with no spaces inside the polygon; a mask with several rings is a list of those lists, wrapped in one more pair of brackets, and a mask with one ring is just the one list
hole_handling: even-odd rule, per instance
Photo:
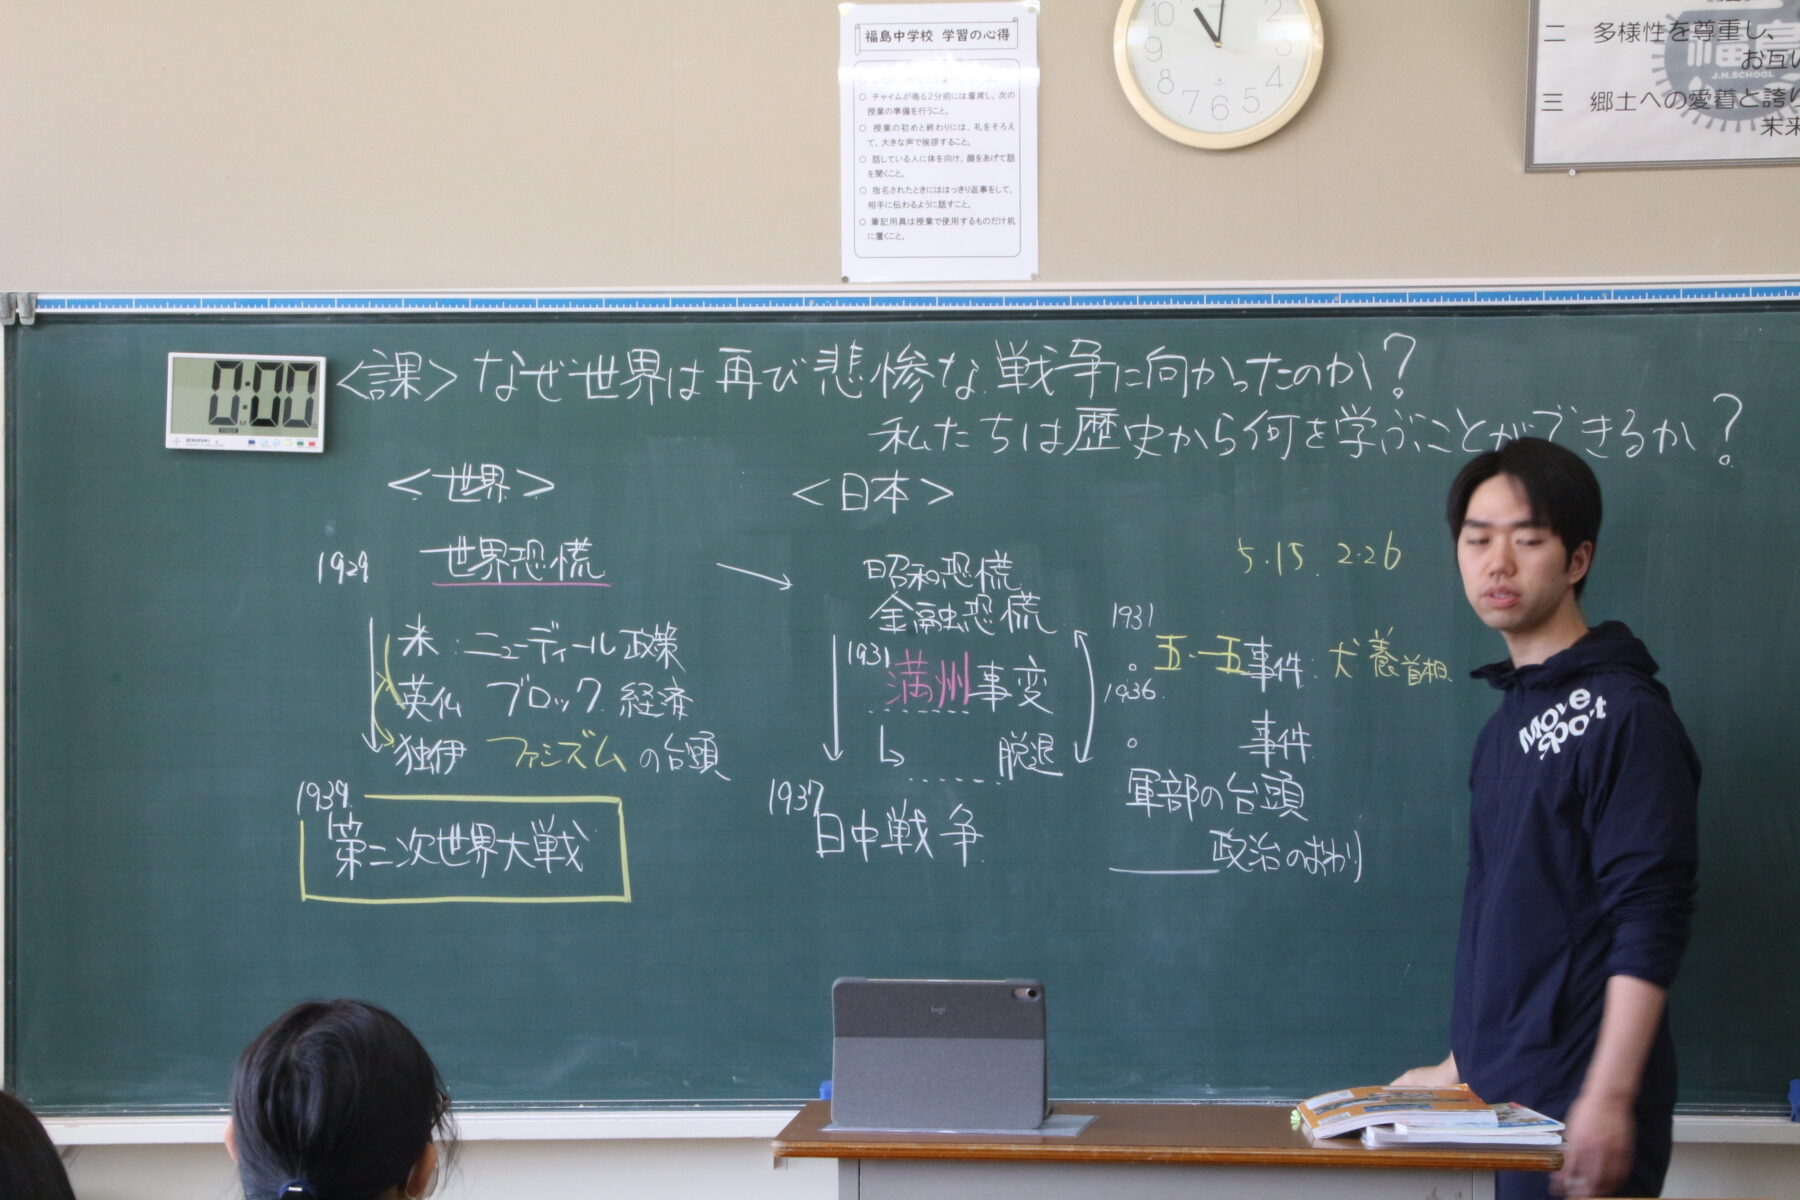
{"label": "large green chalkboard covered with Japanese chalk writing", "polygon": [[[324,356],[324,452],[166,450],[171,351]],[[1706,763],[1683,1099],[1800,1069],[1800,309],[47,315],[7,363],[47,1110],[220,1105],[313,995],[466,1103],[805,1099],[839,975],[1042,979],[1066,1097],[1435,1058],[1503,653],[1442,495],[1526,432]]]}

